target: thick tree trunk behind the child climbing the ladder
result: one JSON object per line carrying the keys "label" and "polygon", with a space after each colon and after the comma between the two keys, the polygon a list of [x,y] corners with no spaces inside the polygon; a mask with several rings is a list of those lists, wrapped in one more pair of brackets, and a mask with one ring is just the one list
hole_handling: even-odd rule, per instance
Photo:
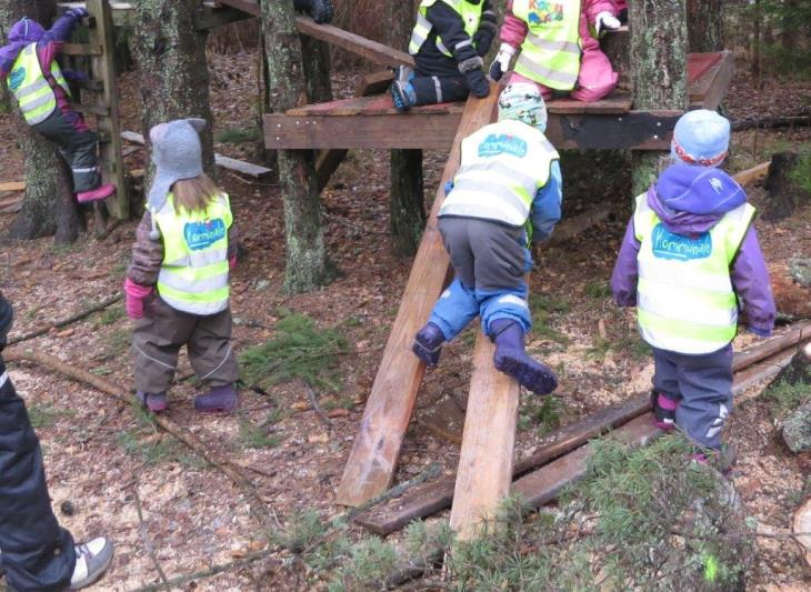
{"label": "thick tree trunk behind the child climbing the ladder", "polygon": [[[29,17],[50,27],[56,14],[53,0],[9,0],[0,4],[2,38],[11,26]],[[3,94],[6,94],[3,84]],[[57,243],[73,242],[86,228],[84,217],[73,198],[70,174],[56,147],[32,130],[20,116],[17,102],[6,97],[14,112],[14,129],[26,158],[23,178],[26,194],[22,209],[12,222],[12,239],[38,239],[56,234]]]}

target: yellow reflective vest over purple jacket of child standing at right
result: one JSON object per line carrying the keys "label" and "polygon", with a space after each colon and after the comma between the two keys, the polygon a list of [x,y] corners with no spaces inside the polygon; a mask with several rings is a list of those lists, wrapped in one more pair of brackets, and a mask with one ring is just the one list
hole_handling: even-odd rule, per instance
{"label": "yellow reflective vest over purple jacket of child standing at right", "polygon": [[637,312],[648,343],[701,354],[734,339],[738,298],[729,268],[753,217],[754,208],[744,203],[727,212],[709,232],[691,238],[670,232],[648,205],[647,193],[637,198]]}

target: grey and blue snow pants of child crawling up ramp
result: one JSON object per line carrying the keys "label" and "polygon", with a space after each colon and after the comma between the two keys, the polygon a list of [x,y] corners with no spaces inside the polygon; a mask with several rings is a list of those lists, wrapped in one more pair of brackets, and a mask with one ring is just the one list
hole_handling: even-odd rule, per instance
{"label": "grey and blue snow pants of child crawling up ramp", "polygon": [[481,317],[482,331],[498,319],[532,327],[523,275],[532,268],[523,228],[478,218],[440,218],[439,231],[451,259],[454,279],[433,307],[429,322],[447,341]]}

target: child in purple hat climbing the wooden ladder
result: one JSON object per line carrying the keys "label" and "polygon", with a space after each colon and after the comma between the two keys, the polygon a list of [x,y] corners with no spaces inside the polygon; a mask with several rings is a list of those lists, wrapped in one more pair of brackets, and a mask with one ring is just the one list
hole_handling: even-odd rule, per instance
{"label": "child in purple hat climbing the wooden ladder", "polygon": [[71,107],[66,81],[69,71],[62,71],[57,63],[62,46],[87,16],[83,8],[72,8],[49,31],[31,19],[22,19],[11,28],[9,44],[0,48],[0,78],[8,83],[26,122],[59,147],[70,167],[80,203],[102,200],[116,192],[114,185],[101,184],[99,139]]}

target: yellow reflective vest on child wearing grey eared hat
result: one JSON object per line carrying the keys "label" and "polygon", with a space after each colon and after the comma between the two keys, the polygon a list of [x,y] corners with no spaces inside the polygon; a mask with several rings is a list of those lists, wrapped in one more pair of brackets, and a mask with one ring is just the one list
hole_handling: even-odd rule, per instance
{"label": "yellow reflective vest on child wearing grey eared hat", "polygon": [[228,308],[228,229],[233,218],[221,193],[204,211],[174,209],[170,193],[156,223],[163,238],[158,293],[173,309],[216,314]]}

